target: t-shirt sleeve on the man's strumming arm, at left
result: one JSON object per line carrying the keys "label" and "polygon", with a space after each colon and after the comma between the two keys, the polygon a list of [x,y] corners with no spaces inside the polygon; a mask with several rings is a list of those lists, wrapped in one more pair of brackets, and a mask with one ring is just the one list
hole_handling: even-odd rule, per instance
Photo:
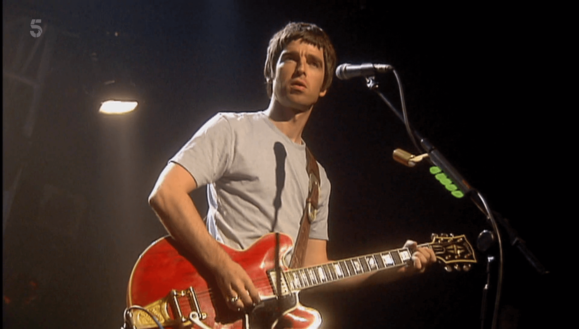
{"label": "t-shirt sleeve on the man's strumming arm, at left", "polygon": [[233,133],[228,120],[218,113],[209,119],[169,160],[195,178],[197,187],[215,182],[231,165]]}

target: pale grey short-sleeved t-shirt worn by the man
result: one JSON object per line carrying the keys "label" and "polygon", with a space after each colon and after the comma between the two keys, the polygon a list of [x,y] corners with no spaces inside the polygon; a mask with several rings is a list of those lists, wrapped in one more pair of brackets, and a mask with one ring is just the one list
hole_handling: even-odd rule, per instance
{"label": "pale grey short-sleeved t-shirt worn by the man", "polygon": [[[285,161],[274,152],[276,142],[285,149]],[[282,151],[283,153],[283,151]],[[277,162],[276,162],[277,159]],[[281,159],[281,162],[280,162]],[[295,239],[308,193],[306,147],[285,136],[260,112],[221,112],[208,120],[170,159],[207,186],[207,228],[229,247],[245,249],[269,232]],[[276,167],[283,167],[280,184]],[[320,199],[310,238],[328,240],[330,182],[320,168]],[[274,226],[274,198],[281,188],[281,207]]]}

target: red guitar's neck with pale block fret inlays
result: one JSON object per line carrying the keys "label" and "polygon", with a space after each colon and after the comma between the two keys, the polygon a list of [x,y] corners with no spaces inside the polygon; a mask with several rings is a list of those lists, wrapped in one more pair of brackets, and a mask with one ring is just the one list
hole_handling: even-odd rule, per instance
{"label": "red guitar's neck with pale block fret inlays", "polygon": [[[420,244],[419,247],[431,248],[431,243]],[[412,251],[409,248],[399,248],[346,258],[323,265],[286,270],[283,275],[287,286],[282,284],[282,292],[286,293],[288,288],[290,292],[295,292],[364,273],[397,268],[406,265],[411,257]]]}

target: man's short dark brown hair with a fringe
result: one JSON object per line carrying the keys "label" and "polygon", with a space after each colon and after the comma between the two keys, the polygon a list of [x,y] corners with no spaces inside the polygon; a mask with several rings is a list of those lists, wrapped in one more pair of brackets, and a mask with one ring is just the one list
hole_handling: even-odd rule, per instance
{"label": "man's short dark brown hair with a fringe", "polygon": [[267,96],[272,97],[273,79],[276,75],[276,64],[282,50],[292,41],[302,39],[324,51],[324,83],[321,90],[326,90],[332,84],[334,70],[336,69],[336,51],[329,36],[316,24],[310,23],[288,23],[283,29],[273,35],[267,47],[267,58],[265,59],[265,83],[267,85]]}

